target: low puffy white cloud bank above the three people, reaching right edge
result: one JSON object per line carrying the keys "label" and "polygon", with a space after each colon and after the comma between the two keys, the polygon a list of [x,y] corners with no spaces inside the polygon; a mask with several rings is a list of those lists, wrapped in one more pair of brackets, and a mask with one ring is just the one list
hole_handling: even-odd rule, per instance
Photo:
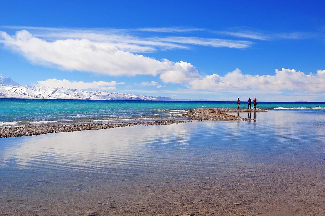
{"label": "low puffy white cloud bank above the three people, reaching right edge", "polygon": [[294,69],[275,70],[275,75],[243,74],[239,69],[227,73],[207,75],[188,82],[191,89],[206,90],[281,90],[323,92],[325,91],[325,70],[317,74],[304,74]]}

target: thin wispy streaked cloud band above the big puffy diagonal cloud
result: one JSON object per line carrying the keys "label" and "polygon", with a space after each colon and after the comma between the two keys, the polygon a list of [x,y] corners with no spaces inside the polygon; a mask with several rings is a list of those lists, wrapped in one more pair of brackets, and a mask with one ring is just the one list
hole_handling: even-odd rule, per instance
{"label": "thin wispy streaked cloud band above the big puffy diagonal cloud", "polygon": [[92,42],[105,42],[120,50],[129,52],[154,52],[168,49],[189,49],[191,45],[247,48],[253,43],[249,41],[191,37],[191,36],[154,36],[142,35],[141,32],[182,33],[206,31],[199,28],[139,28],[139,29],[107,29],[107,28],[50,28],[32,26],[0,26],[1,29],[27,30],[34,37],[49,42],[65,39],[87,39]]}

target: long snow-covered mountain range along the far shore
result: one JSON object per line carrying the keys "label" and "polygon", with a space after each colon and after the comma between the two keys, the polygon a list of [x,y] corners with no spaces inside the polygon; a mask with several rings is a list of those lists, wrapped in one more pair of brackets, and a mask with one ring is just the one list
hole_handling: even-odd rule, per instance
{"label": "long snow-covered mountain range along the far shore", "polygon": [[[10,79],[10,78],[9,78]],[[11,79],[10,79],[11,80]],[[15,81],[13,81],[16,83]],[[69,88],[48,88],[45,86],[12,86],[0,84],[0,98],[80,99],[80,100],[140,100],[157,101],[159,97],[122,94],[105,91],[82,91]],[[172,100],[172,99],[171,99]]]}

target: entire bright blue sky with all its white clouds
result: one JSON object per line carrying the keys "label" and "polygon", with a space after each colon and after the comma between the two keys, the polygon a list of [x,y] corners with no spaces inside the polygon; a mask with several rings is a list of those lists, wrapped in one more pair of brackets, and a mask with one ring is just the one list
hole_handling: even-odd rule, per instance
{"label": "entire bright blue sky with all its white clouds", "polygon": [[323,1],[0,4],[0,74],[21,85],[325,101]]}

